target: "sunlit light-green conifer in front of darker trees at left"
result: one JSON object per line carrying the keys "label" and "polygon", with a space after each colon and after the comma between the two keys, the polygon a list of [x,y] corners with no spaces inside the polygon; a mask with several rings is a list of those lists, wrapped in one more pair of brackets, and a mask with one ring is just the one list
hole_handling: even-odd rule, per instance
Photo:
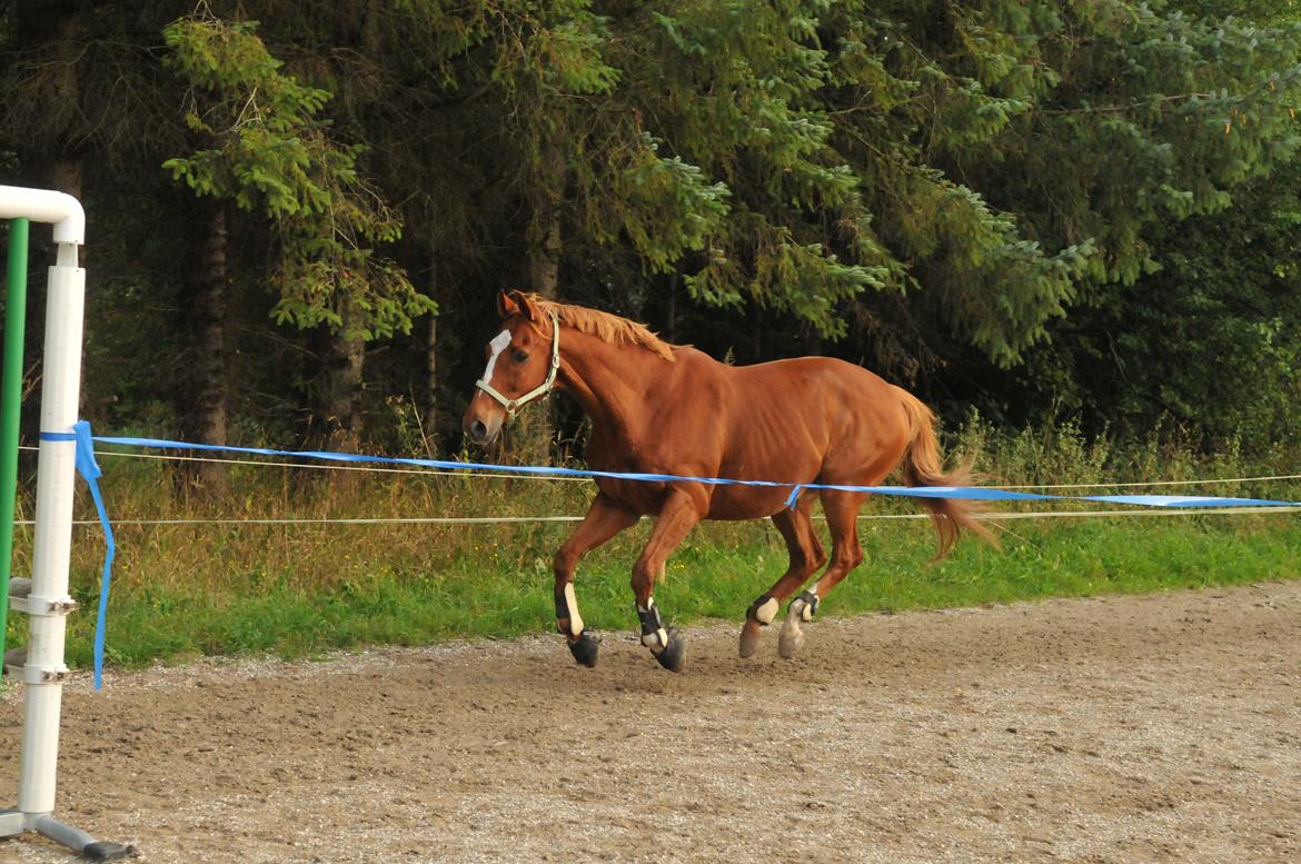
{"label": "sunlit light-green conifer in front of darker trees at left", "polygon": [[268,220],[272,315],[334,336],[325,410],[336,444],[355,448],[364,341],[410,333],[435,307],[376,254],[401,237],[401,219],[359,174],[362,147],[340,144],[319,118],[330,94],[285,74],[256,31],[206,10],[164,29],[165,64],[189,85],[185,117],[199,146],[164,168],[196,195]]}

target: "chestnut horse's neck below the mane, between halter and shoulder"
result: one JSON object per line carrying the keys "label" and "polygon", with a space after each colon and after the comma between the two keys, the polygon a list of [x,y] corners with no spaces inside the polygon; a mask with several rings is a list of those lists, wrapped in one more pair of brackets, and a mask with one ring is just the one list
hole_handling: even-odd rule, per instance
{"label": "chestnut horse's neck below the mane, between halter and shoulder", "polygon": [[561,334],[561,377],[565,389],[592,418],[598,436],[635,440],[656,398],[654,383],[671,363],[647,349],[613,345],[566,329]]}

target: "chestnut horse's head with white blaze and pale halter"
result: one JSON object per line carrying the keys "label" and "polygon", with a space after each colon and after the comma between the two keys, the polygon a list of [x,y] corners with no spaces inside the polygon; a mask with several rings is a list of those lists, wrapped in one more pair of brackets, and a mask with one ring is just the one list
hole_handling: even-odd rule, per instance
{"label": "chestnut horse's head with white blaze and pale halter", "polygon": [[484,347],[488,366],[462,420],[475,444],[493,441],[519,409],[546,396],[559,368],[559,327],[532,294],[503,291],[497,312],[502,329]]}

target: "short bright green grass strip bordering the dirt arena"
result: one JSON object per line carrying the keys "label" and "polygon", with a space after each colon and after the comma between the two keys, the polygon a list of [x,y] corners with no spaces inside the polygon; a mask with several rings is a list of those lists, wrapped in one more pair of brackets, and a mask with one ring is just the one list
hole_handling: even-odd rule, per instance
{"label": "short bright green grass strip bordering the dirt arena", "polygon": [[[1294,578],[1301,575],[1301,526],[1293,517],[1170,517],[1016,522],[1003,549],[971,539],[930,565],[925,523],[865,523],[868,562],[822,604],[822,615],[972,606],[1056,596],[1134,593]],[[781,573],[785,547],[774,531],[697,530],[671,560],[656,599],[675,623],[723,618],[744,609]],[[644,536],[645,526],[640,527]],[[311,656],[369,644],[427,644],[466,636],[550,632],[552,575],[544,549],[563,530],[519,543],[510,531],[483,539],[496,556],[449,566],[394,570],[376,562],[367,576],[319,588],[289,574],[233,574],[220,588],[183,582],[125,580],[112,596],[108,656],[121,666],[202,655]],[[636,533],[636,532],[630,532]],[[714,536],[710,536],[714,535]],[[722,535],[722,536],[719,536]],[[338,541],[346,541],[338,537]],[[628,569],[635,541],[593,553],[579,570],[588,626],[632,630]],[[79,573],[88,586],[94,574]],[[86,592],[85,606],[96,597]],[[92,615],[74,617],[69,662],[90,662]]]}

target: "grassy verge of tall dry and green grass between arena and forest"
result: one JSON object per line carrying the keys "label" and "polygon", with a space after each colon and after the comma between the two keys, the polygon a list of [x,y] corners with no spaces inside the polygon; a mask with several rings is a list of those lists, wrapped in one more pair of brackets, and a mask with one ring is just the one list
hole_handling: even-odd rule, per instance
{"label": "grassy verge of tall dry and green grass between arena and forest", "polygon": [[[1196,455],[1157,441],[1088,441],[1069,427],[1003,433],[978,419],[952,448],[1000,485],[1294,474],[1298,461],[1279,453],[1246,465],[1235,448]],[[131,519],[580,514],[592,492],[585,483],[235,467],[228,492],[202,497],[177,493],[164,463],[100,462],[118,537],[107,653],[124,668],[552,632],[552,556],[572,531],[557,523],[137,526]],[[1202,492],[1301,500],[1297,484]],[[30,511],[27,500],[22,504],[20,518]],[[916,505],[879,498],[869,511],[916,513]],[[79,501],[78,514],[90,513],[90,502]],[[579,566],[578,599],[589,627],[636,626],[628,573],[649,530],[643,520]],[[926,520],[866,520],[860,533],[866,562],[824,601],[820,615],[1301,576],[1301,520],[1292,514],[1010,520],[1002,550],[964,537],[935,565]],[[16,574],[27,567],[30,544],[30,530],[20,531]],[[101,557],[99,530],[78,528],[72,592],[82,612],[69,619],[68,638],[74,666],[90,664]],[[769,523],[705,523],[670,558],[656,601],[674,623],[716,618],[739,626],[785,567],[785,544]],[[9,617],[9,639],[26,639],[22,615]]]}

